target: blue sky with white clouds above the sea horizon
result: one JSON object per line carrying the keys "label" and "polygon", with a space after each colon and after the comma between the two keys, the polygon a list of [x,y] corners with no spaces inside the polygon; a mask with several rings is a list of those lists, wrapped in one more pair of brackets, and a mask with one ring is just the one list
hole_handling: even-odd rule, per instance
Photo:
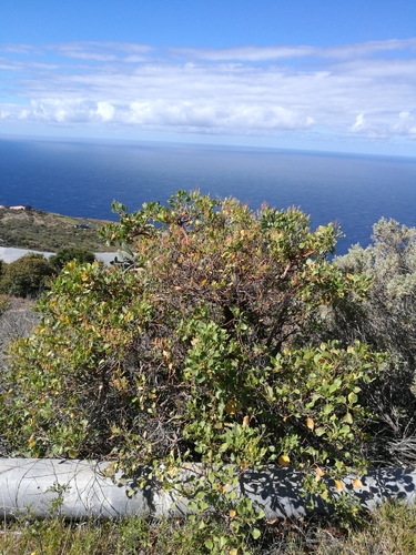
{"label": "blue sky with white clouds above the sea horizon", "polygon": [[416,0],[2,0],[0,135],[416,157]]}

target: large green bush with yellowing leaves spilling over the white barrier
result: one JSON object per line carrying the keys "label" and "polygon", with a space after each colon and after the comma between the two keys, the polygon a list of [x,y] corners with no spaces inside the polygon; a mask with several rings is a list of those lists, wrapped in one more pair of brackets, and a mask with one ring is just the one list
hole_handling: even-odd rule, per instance
{"label": "large green bush with yellowing leaves spilling over the white barrier", "polygon": [[106,458],[126,474],[160,475],[163,462],[168,482],[204,463],[183,494],[224,515],[236,548],[260,534],[262,512],[232,487],[246,470],[291,464],[327,498],[326,467],[363,465],[358,394],[382,359],[318,337],[367,280],[329,263],[337,230],[311,231],[296,209],[255,214],[183,191],[169,206],[114,208],[120,224],[104,233],[123,263],[62,270],[35,333],[11,350],[2,427],[17,454]]}

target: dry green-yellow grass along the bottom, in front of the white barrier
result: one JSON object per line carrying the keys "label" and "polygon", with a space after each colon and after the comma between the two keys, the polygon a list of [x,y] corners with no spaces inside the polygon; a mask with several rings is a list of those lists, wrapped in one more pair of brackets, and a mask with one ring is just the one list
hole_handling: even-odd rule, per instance
{"label": "dry green-yellow grass along the bottom, in front of the white barrier", "polygon": [[[207,553],[204,538],[219,531],[206,523],[195,541],[194,528],[180,521],[125,518],[119,522],[68,524],[60,519],[3,525],[3,555],[200,555]],[[334,523],[280,522],[267,527],[255,555],[414,555],[416,509],[387,504],[371,515],[361,529]],[[225,555],[225,554],[224,554]]]}

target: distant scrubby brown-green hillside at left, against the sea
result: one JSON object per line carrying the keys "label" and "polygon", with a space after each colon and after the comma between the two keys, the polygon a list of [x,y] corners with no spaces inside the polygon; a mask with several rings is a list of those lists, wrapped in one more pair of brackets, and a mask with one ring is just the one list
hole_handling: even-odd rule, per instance
{"label": "distant scrubby brown-green hillside at left, against the sea", "polygon": [[104,220],[73,218],[42,210],[0,209],[0,246],[55,252],[63,246],[82,246],[93,252],[104,246],[98,230]]}

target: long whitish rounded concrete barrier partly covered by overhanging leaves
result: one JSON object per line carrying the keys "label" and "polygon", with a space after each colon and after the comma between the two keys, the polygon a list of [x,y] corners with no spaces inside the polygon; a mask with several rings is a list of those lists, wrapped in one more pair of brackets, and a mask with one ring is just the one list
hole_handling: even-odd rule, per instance
{"label": "long whitish rounded concrete barrier partly covered by overhanging leaves", "polygon": [[[105,476],[106,467],[108,463],[85,461],[0,458],[0,516],[45,518],[58,513],[65,518],[83,519],[190,513],[174,491],[165,492],[156,483],[141,490],[134,482],[123,482],[120,473],[114,483]],[[192,472],[181,471],[182,480],[189,480]],[[416,470],[372,468],[359,476],[359,488],[353,487],[356,477],[343,480],[344,491],[353,492],[368,511],[390,498],[415,502]],[[302,496],[301,484],[301,473],[290,468],[247,471],[240,478],[237,495],[260,503],[268,519],[331,513],[331,505],[319,496],[312,497],[313,508],[308,508],[311,496]],[[342,495],[331,478],[327,485],[332,494]]]}

